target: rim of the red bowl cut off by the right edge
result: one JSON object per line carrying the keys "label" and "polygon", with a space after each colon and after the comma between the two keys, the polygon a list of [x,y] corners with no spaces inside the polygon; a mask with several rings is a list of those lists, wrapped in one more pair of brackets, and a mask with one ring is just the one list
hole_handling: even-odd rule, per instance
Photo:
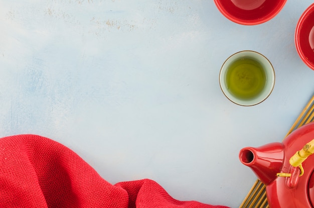
{"label": "rim of the red bowl cut off by the right edge", "polygon": [[303,54],[302,50],[301,50],[301,46],[299,43],[299,36],[300,36],[300,28],[302,23],[304,22],[304,19],[306,18],[307,14],[309,12],[311,12],[311,10],[313,10],[312,12],[314,12],[314,3],[311,4],[301,15],[301,17],[299,18],[296,27],[295,27],[295,33],[294,33],[294,45],[297,51],[297,54],[300,56],[301,60],[312,70],[314,70],[314,63],[311,63],[307,60],[307,58],[305,57],[305,55]]}

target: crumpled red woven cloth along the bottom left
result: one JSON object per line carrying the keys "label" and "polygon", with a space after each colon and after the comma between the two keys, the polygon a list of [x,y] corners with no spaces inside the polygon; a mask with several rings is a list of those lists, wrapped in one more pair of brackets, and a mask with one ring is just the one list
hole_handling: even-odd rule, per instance
{"label": "crumpled red woven cloth along the bottom left", "polygon": [[226,207],[172,198],[149,180],[104,180],[64,145],[37,135],[0,139],[0,207]]}

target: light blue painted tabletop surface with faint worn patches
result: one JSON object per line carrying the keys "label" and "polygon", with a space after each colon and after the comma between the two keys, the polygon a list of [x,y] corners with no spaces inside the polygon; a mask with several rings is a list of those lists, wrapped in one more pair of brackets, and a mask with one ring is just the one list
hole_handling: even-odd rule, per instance
{"label": "light blue painted tabletop surface with faint worn patches", "polygon": [[[0,133],[68,146],[111,183],[150,178],[179,200],[238,207],[255,181],[245,146],[281,141],[314,91],[294,47],[311,1],[242,26],[213,1],[0,2]],[[241,50],[276,73],[264,102],[240,107],[219,69]]]}

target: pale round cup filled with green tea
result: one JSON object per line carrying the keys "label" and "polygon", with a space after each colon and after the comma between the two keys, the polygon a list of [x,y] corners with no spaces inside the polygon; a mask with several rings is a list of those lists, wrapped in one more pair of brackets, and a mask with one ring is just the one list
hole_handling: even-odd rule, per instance
{"label": "pale round cup filled with green tea", "polygon": [[241,51],[230,56],[219,76],[223,93],[241,106],[253,106],[265,100],[275,81],[269,60],[254,51]]}

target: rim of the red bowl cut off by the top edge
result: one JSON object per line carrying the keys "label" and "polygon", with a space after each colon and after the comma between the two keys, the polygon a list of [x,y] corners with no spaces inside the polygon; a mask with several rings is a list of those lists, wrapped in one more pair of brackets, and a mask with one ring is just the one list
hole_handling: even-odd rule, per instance
{"label": "rim of the red bowl cut off by the top edge", "polygon": [[235,18],[232,15],[230,15],[230,13],[228,13],[225,10],[225,8],[223,6],[221,6],[220,1],[224,1],[224,0],[214,0],[216,7],[221,12],[221,14],[223,14],[223,16],[225,16],[227,19],[231,20],[232,22],[238,23],[240,25],[259,25],[259,24],[265,23],[265,22],[269,21],[270,19],[274,18],[282,10],[285,3],[287,2],[287,0],[284,0],[282,2],[282,4],[280,5],[280,8],[273,15],[271,15],[265,19],[256,19],[256,20],[246,21],[246,20],[242,20],[239,18]]}

